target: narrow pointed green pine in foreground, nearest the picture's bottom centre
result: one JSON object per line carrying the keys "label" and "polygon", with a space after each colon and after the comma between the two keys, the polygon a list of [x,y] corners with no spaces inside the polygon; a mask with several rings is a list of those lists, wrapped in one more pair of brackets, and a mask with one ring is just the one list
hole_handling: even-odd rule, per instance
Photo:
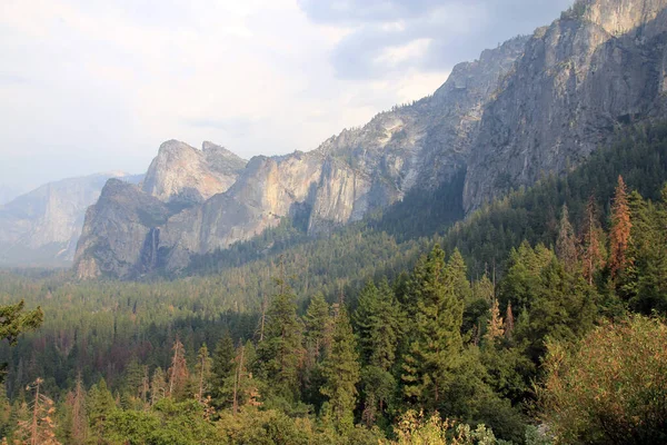
{"label": "narrow pointed green pine in foreground, nearest the picture's bottom centre", "polygon": [[352,326],[345,306],[339,308],[335,320],[331,352],[325,359],[322,374],[326,383],[320,392],[329,397],[329,413],[340,432],[349,432],[355,424],[360,367]]}

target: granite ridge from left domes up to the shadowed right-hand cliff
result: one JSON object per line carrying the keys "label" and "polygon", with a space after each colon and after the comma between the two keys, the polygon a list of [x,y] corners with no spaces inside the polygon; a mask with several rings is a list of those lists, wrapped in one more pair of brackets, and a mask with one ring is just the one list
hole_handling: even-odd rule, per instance
{"label": "granite ridge from left domes up to the shadowed right-hand cliff", "polygon": [[[454,180],[465,169],[481,110],[526,40],[484,51],[479,60],[458,65],[431,97],[381,112],[309,152],[258,156],[242,170],[236,162],[213,169],[207,167],[206,142],[202,150],[165,142],[141,190],[109,182],[104,199],[88,211],[74,260],[78,276],[181,270],[193,256],[250,239],[286,217],[305,221],[309,234],[327,234],[414,188]],[[226,152],[225,159],[238,158]],[[142,217],[127,199],[138,192],[159,207],[159,218]]]}

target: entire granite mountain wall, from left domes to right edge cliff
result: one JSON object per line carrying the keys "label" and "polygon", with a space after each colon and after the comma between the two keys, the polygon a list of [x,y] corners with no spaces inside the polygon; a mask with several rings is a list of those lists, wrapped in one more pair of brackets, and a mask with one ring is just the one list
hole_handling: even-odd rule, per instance
{"label": "entire granite mountain wall, from left domes to right edge cliff", "polygon": [[88,212],[78,276],[179,271],[195,256],[250,239],[286,217],[326,235],[408,194],[436,189],[458,192],[461,211],[470,214],[545,174],[567,171],[616,129],[664,116],[665,8],[667,0],[578,1],[532,36],[458,65],[432,96],[381,112],[310,152],[256,157],[240,170],[196,167],[200,174],[191,175],[175,159],[207,165],[206,150],[192,155],[182,142],[166,142],[180,155],[160,149],[151,168],[172,171],[162,181],[173,187],[139,190],[161,202],[151,201],[159,217],[132,211],[123,194],[138,190],[112,184],[109,199]]}

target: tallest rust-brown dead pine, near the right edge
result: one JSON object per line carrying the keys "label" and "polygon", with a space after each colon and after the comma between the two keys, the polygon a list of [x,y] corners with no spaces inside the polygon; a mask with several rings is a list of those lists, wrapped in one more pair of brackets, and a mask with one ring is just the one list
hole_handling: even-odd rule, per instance
{"label": "tallest rust-brown dead pine, near the right edge", "polygon": [[628,194],[621,176],[618,176],[618,185],[614,194],[611,205],[611,230],[609,233],[610,255],[609,268],[611,277],[617,276],[629,264],[626,255],[630,244],[630,208],[628,205]]}

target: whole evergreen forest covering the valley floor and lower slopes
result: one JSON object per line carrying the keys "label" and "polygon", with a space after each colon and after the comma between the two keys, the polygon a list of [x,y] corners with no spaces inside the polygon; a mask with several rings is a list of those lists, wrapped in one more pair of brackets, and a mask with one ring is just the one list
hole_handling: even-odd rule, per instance
{"label": "whole evergreen forest covering the valley floor and lower slopes", "polygon": [[176,279],[0,271],[0,437],[666,443],[667,125],[614,139],[458,222],[461,178]]}

